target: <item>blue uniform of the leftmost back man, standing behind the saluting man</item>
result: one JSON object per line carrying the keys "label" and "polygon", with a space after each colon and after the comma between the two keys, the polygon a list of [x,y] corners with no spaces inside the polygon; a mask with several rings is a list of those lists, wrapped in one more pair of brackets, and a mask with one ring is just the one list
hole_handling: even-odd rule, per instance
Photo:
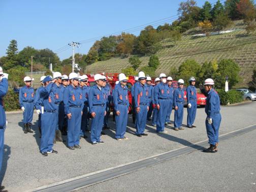
{"label": "blue uniform of the leftmost back man, standing behind the saluting man", "polygon": [[34,113],[34,88],[24,86],[19,91],[19,103],[21,107],[25,108],[23,112],[23,123],[31,123]]}

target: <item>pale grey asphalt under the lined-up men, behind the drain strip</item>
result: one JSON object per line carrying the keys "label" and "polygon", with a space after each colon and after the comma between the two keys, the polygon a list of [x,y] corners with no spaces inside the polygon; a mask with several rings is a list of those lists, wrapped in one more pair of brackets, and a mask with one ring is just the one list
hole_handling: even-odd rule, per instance
{"label": "pale grey asphalt under the lined-up men, behind the drain strip", "polygon": [[[255,124],[255,113],[256,102],[240,106],[221,107],[220,134]],[[7,114],[9,123],[5,133],[6,152],[1,173],[2,177],[4,175],[3,185],[9,191],[25,191],[206,140],[205,117],[204,108],[199,108],[195,122],[198,127],[195,129],[176,132],[171,125],[166,127],[168,134],[158,135],[155,133],[155,127],[148,125],[146,132],[149,135],[138,138],[134,135],[134,124],[131,123],[130,116],[126,134],[129,140],[127,141],[116,141],[114,130],[108,130],[107,135],[102,137],[103,141],[106,142],[104,145],[92,146],[89,139],[82,139],[80,143],[82,148],[70,151],[65,143],[57,143],[54,149],[58,151],[58,154],[44,157],[39,153],[40,139],[36,125],[37,115],[34,114],[33,127],[36,133],[23,134],[20,126],[22,125],[22,114]],[[171,119],[173,120],[173,113]],[[183,123],[186,123],[186,109],[184,109]],[[115,124],[110,121],[110,126],[114,128]],[[242,145],[240,148],[245,149]],[[186,167],[186,169],[188,168]],[[158,180],[157,177],[155,179]],[[162,178],[159,179],[159,181],[161,180]]]}

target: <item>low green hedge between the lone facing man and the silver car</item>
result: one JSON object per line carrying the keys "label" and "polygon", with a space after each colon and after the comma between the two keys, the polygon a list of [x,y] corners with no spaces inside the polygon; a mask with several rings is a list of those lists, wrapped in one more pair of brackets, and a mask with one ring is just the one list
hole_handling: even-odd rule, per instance
{"label": "low green hedge between the lone facing man and the silver car", "polygon": [[243,101],[243,94],[236,90],[229,90],[225,92],[225,90],[217,89],[219,94],[219,100],[221,105],[227,105],[228,103],[240,103]]}

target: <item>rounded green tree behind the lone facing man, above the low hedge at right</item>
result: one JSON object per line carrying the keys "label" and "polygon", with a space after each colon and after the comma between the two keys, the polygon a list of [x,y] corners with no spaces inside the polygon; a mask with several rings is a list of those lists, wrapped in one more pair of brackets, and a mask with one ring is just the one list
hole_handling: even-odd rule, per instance
{"label": "rounded green tree behind the lone facing man, above the low hedge at right", "polygon": [[229,87],[232,88],[239,81],[239,65],[232,59],[222,59],[218,62],[217,76],[215,79],[215,86],[217,88],[224,88],[226,77],[229,78]]}

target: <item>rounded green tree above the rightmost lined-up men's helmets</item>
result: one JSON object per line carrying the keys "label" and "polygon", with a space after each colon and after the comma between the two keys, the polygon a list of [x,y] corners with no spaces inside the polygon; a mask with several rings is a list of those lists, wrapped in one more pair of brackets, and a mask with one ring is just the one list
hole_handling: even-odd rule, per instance
{"label": "rounded green tree above the rightmost lined-up men's helmets", "polygon": [[178,78],[183,79],[185,82],[187,82],[191,76],[198,79],[200,70],[201,66],[197,61],[186,60],[179,66]]}

